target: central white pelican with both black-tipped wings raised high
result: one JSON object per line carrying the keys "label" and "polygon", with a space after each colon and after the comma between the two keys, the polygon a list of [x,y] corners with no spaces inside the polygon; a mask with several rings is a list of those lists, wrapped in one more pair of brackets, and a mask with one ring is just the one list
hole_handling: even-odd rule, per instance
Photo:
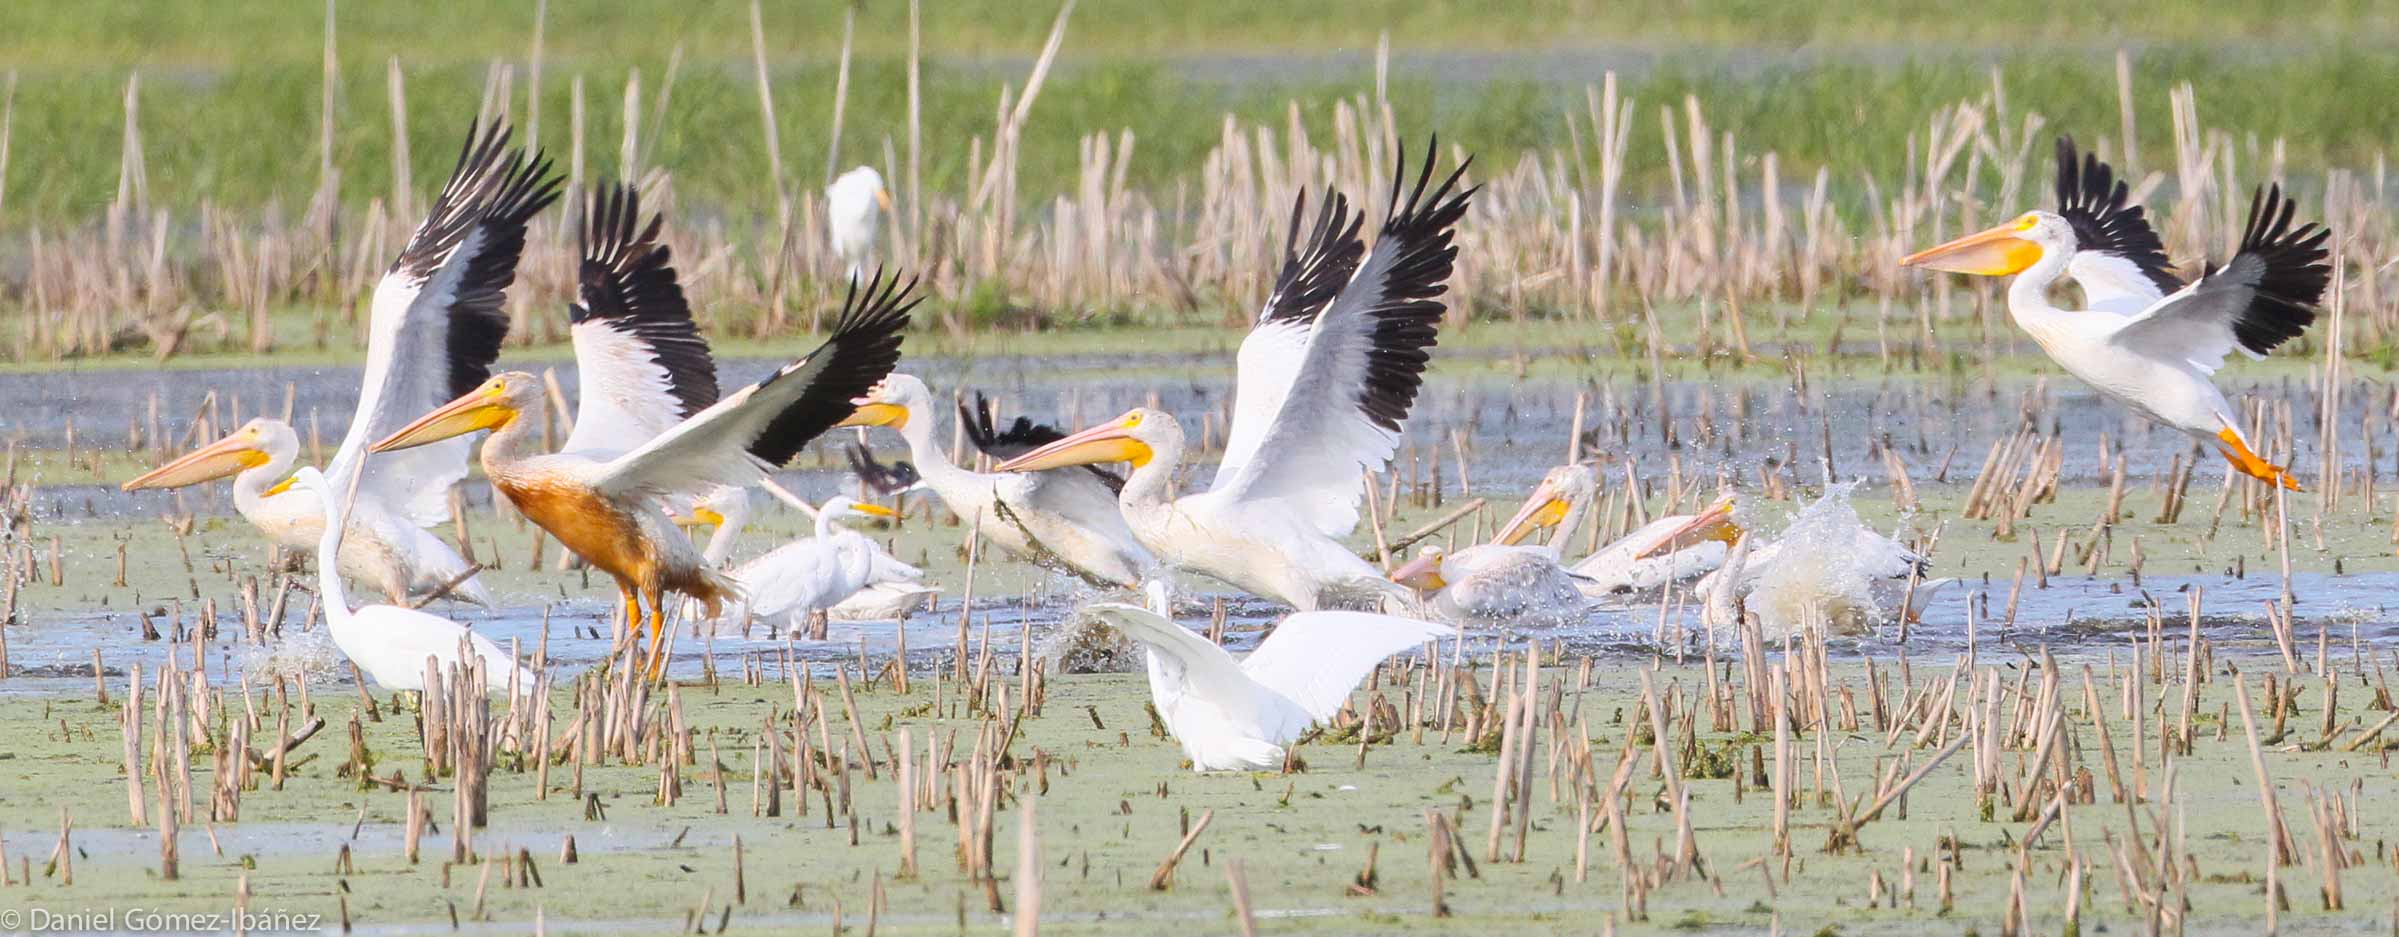
{"label": "central white pelican with both black-tipped wings raised high", "polygon": [[1406,204],[1406,163],[1394,170],[1372,252],[1358,240],[1365,216],[1339,194],[1324,201],[1307,249],[1293,252],[1307,197],[1293,204],[1283,271],[1240,343],[1233,424],[1207,491],[1173,496],[1183,427],[1149,407],[998,470],[1130,463],[1118,506],[1159,561],[1300,611],[1403,594],[1341,539],[1358,527],[1365,474],[1389,465],[1425,379],[1456,259],[1451,228],[1475,194],[1459,189],[1466,165],[1432,187],[1432,163],[1427,151]]}

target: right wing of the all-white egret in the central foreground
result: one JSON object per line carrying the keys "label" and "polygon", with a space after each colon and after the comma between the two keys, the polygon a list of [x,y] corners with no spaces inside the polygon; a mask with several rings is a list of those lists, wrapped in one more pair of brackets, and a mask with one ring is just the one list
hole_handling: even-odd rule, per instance
{"label": "right wing of the all-white egret in the central foreground", "polygon": [[1274,625],[1274,633],[1240,661],[1240,671],[1300,705],[1310,719],[1324,721],[1341,712],[1341,702],[1375,671],[1375,664],[1456,635],[1456,628],[1418,618],[1298,611]]}

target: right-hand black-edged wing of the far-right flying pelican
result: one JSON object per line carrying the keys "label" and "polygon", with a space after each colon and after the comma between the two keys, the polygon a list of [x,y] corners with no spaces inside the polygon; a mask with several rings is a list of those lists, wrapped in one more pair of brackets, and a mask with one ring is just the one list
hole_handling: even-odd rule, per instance
{"label": "right-hand black-edged wing of the far-right flying pelican", "polygon": [[2109,343],[2214,374],[2236,347],[2265,357],[2274,345],[2298,338],[2315,324],[2315,304],[2332,280],[2332,266],[2325,264],[2325,240],[2332,232],[2313,223],[2293,230],[2291,211],[2279,185],[2257,192],[2241,252],[2126,319]]}

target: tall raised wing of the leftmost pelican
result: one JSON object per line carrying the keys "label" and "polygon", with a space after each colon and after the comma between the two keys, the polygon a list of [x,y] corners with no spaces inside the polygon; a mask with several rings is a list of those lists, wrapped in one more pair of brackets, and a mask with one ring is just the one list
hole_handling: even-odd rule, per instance
{"label": "tall raised wing of the leftmost pelican", "polygon": [[[549,161],[509,146],[509,127],[468,134],[458,168],[398,261],[374,285],[357,412],[329,472],[348,477],[367,443],[492,376],[509,335],[501,309],[525,252],[525,223],[559,197]],[[357,498],[417,527],[449,520],[449,491],[473,441],[451,439],[374,460]]]}

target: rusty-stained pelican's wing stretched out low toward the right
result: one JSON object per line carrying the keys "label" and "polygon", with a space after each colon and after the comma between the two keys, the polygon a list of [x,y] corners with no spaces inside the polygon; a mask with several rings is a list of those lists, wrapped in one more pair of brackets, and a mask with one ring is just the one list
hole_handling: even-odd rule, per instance
{"label": "rusty-stained pelican's wing stretched out low toward the right", "polygon": [[612,460],[593,484],[650,496],[758,484],[856,410],[849,400],[900,364],[914,285],[897,278],[854,283],[823,345]]}

